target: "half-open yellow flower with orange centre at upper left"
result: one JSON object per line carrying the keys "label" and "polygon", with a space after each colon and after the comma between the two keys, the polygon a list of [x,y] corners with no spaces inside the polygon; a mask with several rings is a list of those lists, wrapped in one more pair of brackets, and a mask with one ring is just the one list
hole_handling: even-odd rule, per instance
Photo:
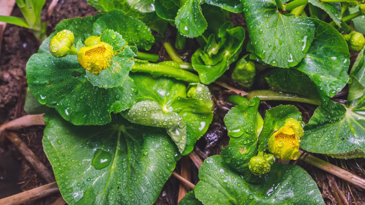
{"label": "half-open yellow flower with orange centre at upper left", "polygon": [[93,46],[82,47],[77,53],[77,60],[90,73],[98,75],[101,70],[112,65],[113,55],[113,47],[108,43],[100,42]]}

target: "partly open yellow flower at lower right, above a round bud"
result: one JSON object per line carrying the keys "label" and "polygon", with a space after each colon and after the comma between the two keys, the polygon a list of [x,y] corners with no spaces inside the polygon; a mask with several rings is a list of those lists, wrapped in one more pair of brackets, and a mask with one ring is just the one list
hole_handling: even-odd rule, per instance
{"label": "partly open yellow flower at lower right, above a round bud", "polygon": [[303,127],[298,120],[286,119],[283,127],[270,136],[269,151],[283,160],[298,159],[299,142],[303,134]]}

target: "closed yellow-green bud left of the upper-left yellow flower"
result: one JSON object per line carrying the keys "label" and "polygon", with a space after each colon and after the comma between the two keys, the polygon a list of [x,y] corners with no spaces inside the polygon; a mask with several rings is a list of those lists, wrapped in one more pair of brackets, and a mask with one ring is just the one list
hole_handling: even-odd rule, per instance
{"label": "closed yellow-green bud left of the upper-left yellow flower", "polygon": [[75,47],[73,47],[74,41],[75,37],[73,36],[72,31],[60,31],[51,38],[51,41],[49,42],[49,51],[54,57],[57,58],[65,57],[70,53],[76,54],[77,50]]}

